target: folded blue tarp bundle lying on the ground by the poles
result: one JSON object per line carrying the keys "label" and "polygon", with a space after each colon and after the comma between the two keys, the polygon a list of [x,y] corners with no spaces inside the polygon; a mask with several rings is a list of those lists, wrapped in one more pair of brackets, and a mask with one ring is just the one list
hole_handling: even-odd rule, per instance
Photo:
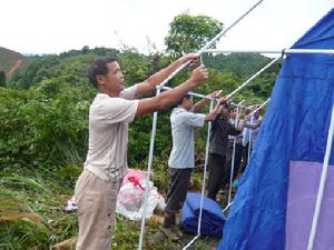
{"label": "folded blue tarp bundle lying on the ground by the poles", "polygon": [[[181,224],[189,231],[197,233],[200,194],[188,192],[181,209]],[[204,197],[200,234],[222,237],[225,217],[216,201]]]}

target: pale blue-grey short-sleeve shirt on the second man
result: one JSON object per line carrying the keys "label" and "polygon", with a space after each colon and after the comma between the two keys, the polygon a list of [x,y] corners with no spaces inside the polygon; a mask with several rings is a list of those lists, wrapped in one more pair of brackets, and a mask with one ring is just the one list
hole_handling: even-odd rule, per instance
{"label": "pale blue-grey short-sleeve shirt on the second man", "polygon": [[194,128],[203,127],[205,114],[175,108],[170,114],[173,148],[168,164],[171,168],[186,169],[195,167]]}

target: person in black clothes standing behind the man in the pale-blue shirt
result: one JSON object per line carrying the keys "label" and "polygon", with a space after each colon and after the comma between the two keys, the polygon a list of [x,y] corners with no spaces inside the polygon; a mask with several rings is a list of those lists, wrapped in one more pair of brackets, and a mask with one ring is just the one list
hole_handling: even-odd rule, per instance
{"label": "person in black clothes standing behind the man in the pale-blue shirt", "polygon": [[229,122],[227,114],[228,106],[222,106],[212,123],[207,197],[213,200],[216,200],[219,189],[225,188],[229,181],[230,166],[226,166],[228,136],[237,136],[242,132]]}

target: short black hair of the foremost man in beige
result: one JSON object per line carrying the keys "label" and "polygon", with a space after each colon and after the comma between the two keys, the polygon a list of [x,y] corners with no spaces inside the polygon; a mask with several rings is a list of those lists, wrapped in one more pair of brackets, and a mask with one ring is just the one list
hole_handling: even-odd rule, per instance
{"label": "short black hair of the foremost man in beige", "polygon": [[102,74],[102,76],[106,76],[108,73],[108,67],[107,64],[109,62],[114,62],[116,61],[115,58],[97,58],[95,59],[94,61],[91,61],[89,63],[89,67],[88,67],[88,78],[89,78],[89,81],[90,83],[95,87],[95,88],[98,88],[98,82],[97,82],[97,76],[98,74]]}

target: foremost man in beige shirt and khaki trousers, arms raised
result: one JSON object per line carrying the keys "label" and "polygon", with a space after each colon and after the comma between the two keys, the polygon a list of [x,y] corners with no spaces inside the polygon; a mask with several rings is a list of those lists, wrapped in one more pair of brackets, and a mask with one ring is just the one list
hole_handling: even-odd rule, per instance
{"label": "foremost man in beige shirt and khaki trousers, arms raised", "polygon": [[98,58],[90,63],[89,81],[98,93],[89,109],[88,153],[75,189],[79,219],[77,250],[110,250],[117,194],[128,169],[128,124],[135,118],[176,103],[207,79],[207,69],[196,68],[183,84],[157,97],[136,98],[153,92],[188,60],[196,62],[198,58],[187,54],[127,89],[116,59]]}

